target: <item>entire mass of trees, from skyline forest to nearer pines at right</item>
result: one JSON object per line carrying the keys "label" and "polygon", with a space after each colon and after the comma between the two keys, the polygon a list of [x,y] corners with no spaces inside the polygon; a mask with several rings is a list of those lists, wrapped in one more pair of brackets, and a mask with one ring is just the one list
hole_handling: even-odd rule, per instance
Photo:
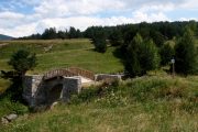
{"label": "entire mass of trees, from skyline forest to nearer pines at right", "polygon": [[86,37],[92,41],[96,52],[100,53],[105,53],[108,45],[116,46],[127,74],[134,77],[169,65],[172,58],[176,61],[177,73],[185,75],[196,73],[198,54],[195,46],[196,36],[198,36],[198,22],[184,21],[90,26],[84,32],[75,28],[68,31],[56,31],[55,28],[50,28],[43,34],[22,38]]}

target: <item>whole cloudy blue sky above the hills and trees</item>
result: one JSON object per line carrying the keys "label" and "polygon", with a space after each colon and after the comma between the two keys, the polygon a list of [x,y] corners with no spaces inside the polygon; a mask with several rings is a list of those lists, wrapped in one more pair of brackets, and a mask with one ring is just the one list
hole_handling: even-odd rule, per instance
{"label": "whole cloudy blue sky above the hills and trees", "polygon": [[198,0],[0,0],[0,34],[14,37],[47,28],[198,20]]}

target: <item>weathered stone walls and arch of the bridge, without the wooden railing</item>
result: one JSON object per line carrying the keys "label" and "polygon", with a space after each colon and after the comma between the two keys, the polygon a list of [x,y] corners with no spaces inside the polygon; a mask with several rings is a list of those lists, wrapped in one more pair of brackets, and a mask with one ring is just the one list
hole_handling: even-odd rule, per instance
{"label": "weathered stone walls and arch of the bridge, without the wooden railing", "polygon": [[41,75],[24,78],[23,98],[31,107],[52,105],[53,101],[67,101],[72,92],[79,92],[81,79],[79,77],[54,77],[48,80]]}

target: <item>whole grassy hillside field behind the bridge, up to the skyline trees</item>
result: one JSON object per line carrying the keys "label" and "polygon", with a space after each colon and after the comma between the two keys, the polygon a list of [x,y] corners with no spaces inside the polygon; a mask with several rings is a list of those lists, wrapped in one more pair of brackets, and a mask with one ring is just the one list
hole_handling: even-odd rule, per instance
{"label": "whole grassy hillside field behind the bridge, up to the skyline trees", "polygon": [[[94,51],[94,45],[87,38],[52,40],[52,41],[4,41],[0,47],[0,70],[9,70],[7,62],[18,50],[36,53],[37,66],[28,74],[43,74],[51,69],[70,66],[85,68],[94,73],[118,73],[123,70],[119,58],[113,56],[114,47],[100,54]],[[8,84],[0,79],[0,92]]]}

